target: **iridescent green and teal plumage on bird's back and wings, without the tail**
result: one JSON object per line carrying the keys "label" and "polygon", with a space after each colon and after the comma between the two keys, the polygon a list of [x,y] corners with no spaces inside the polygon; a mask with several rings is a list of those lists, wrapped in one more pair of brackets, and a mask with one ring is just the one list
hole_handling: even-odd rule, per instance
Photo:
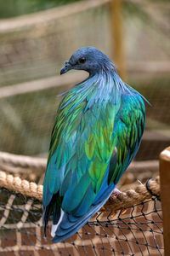
{"label": "iridescent green and teal plumage on bird's back and wings, without the tail", "polygon": [[[105,84],[103,90],[107,86],[113,84]],[[48,190],[51,196],[59,191],[66,212],[78,207],[90,184],[94,195],[98,194],[108,167],[108,185],[118,182],[136,154],[144,130],[144,102],[138,94],[120,94],[113,86],[116,96],[92,104],[101,88],[89,86],[82,93],[80,88],[70,90],[59,105],[45,177],[44,198]],[[136,125],[139,121],[143,127]],[[84,185],[78,189],[81,180]],[[68,207],[65,202],[77,193],[80,197]]]}

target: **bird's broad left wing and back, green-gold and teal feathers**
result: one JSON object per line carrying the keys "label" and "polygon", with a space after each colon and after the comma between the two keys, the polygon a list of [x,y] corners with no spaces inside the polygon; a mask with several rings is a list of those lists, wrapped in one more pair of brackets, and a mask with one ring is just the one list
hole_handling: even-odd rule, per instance
{"label": "bird's broad left wing and back, green-gold and teal feathers", "polygon": [[86,195],[91,196],[90,205],[98,193],[116,146],[112,132],[120,108],[120,102],[109,102],[100,108],[94,104],[84,112],[87,101],[76,105],[73,101],[64,108],[72,97],[65,96],[57,113],[43,185],[43,206],[59,192],[66,212],[75,209]]}

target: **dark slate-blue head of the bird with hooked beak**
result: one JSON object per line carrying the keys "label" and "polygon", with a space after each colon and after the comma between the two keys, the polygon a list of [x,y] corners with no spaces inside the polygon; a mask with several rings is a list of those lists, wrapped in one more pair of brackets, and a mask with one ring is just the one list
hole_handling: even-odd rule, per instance
{"label": "dark slate-blue head of the bird with hooked beak", "polygon": [[85,70],[90,75],[94,75],[102,71],[111,72],[116,70],[116,67],[108,56],[99,49],[88,46],[77,49],[71,55],[70,60],[65,61],[65,67],[61,69],[60,74],[66,73],[71,69]]}

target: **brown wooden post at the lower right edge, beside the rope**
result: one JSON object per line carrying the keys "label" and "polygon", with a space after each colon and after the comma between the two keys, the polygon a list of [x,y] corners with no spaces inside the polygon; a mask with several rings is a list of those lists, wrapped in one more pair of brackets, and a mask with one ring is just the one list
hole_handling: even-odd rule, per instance
{"label": "brown wooden post at the lower right edge, beside the rope", "polygon": [[170,255],[170,147],[160,154],[161,208],[165,256]]}

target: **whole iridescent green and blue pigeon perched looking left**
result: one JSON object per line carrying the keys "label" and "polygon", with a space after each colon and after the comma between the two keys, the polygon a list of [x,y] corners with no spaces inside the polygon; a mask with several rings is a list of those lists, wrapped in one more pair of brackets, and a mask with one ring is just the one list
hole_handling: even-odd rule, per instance
{"label": "whole iridescent green and blue pigeon perched looking left", "polygon": [[46,234],[53,215],[54,242],[81,229],[116,189],[139,149],[148,102],[92,46],[77,49],[60,74],[71,69],[88,78],[62,94],[51,135],[42,221]]}

